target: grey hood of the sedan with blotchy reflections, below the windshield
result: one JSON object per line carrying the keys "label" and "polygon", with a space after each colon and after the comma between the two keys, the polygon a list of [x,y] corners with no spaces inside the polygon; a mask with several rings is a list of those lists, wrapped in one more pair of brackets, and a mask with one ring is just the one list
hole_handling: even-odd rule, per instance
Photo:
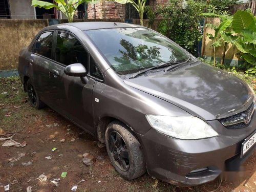
{"label": "grey hood of the sedan with blotchy reflections, below the windshield", "polygon": [[254,98],[245,82],[200,61],[170,72],[125,79],[124,83],[204,120],[240,113]]}

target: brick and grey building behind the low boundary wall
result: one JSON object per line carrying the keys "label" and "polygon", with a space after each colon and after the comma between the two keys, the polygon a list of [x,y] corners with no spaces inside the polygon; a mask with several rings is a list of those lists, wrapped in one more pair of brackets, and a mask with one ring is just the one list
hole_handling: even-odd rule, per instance
{"label": "brick and grey building behind the low boundary wall", "polygon": [[[42,0],[54,3],[53,0]],[[164,4],[168,0],[147,0],[146,5],[153,6]],[[139,18],[138,12],[131,4],[121,5],[115,2],[100,0],[94,5],[82,4],[78,7],[77,18]],[[146,15],[144,15],[146,18]],[[57,9],[44,9],[31,6],[31,0],[0,0],[0,18],[12,19],[42,19],[42,18],[66,18]]]}

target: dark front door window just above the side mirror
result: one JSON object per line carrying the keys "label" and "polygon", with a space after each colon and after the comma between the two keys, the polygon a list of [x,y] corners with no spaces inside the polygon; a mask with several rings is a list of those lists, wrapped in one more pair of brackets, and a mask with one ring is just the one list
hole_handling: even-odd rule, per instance
{"label": "dark front door window just above the side mirror", "polygon": [[73,35],[58,32],[55,60],[65,66],[82,63],[88,70],[88,53]]}

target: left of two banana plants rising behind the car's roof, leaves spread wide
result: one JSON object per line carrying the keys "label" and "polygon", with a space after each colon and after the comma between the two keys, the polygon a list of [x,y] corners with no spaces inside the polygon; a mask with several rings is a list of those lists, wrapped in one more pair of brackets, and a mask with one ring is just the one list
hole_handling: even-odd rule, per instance
{"label": "left of two banana plants rising behind the car's roof, leaves spread wide", "polygon": [[44,2],[44,1],[32,0],[31,6],[45,8],[45,9],[56,8],[68,17],[69,23],[72,23],[75,12],[77,10],[77,7],[80,4],[82,4],[84,2],[94,3],[96,1],[94,1],[94,0],[66,0],[66,1],[65,0],[54,0],[54,2],[57,5],[55,5],[53,3],[49,3],[49,2]]}

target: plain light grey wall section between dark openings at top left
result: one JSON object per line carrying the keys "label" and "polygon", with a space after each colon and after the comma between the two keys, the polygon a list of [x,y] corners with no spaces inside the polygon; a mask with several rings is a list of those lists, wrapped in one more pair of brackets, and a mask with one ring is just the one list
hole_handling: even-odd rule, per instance
{"label": "plain light grey wall section between dark openings at top left", "polygon": [[29,0],[9,0],[10,12],[12,18],[22,19],[30,18],[35,19],[34,7],[31,6]]}

